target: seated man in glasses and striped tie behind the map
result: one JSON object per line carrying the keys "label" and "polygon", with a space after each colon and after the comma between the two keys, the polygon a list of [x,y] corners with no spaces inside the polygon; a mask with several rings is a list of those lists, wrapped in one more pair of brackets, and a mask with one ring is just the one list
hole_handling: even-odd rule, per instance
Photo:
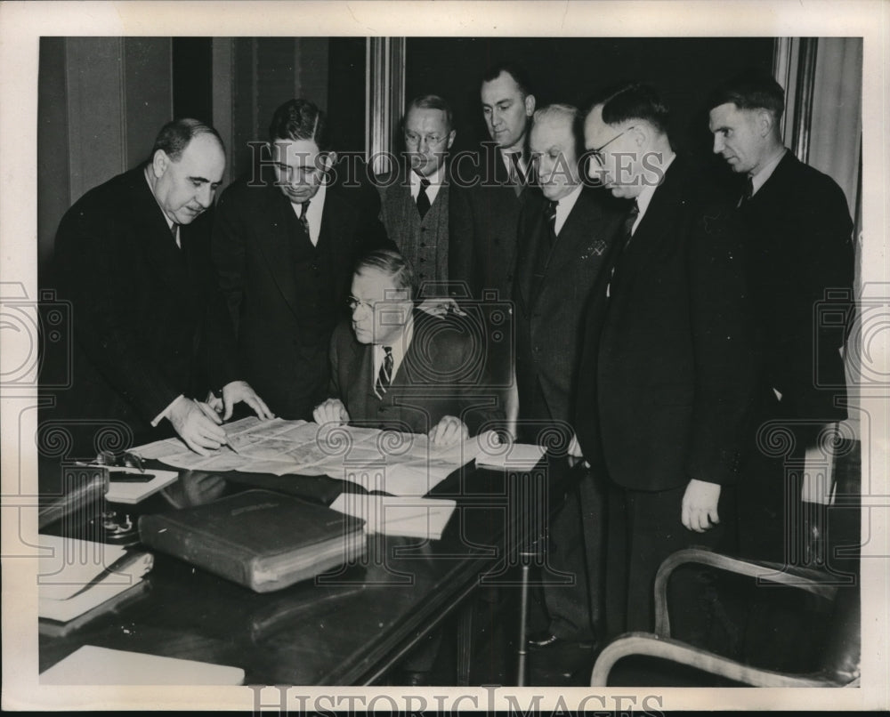
{"label": "seated man in glasses and striped tie behind the map", "polygon": [[366,254],[352,275],[352,322],[331,339],[331,398],[316,423],[428,433],[445,447],[489,428],[504,414],[485,375],[481,342],[451,315],[412,302],[414,272],[389,249]]}

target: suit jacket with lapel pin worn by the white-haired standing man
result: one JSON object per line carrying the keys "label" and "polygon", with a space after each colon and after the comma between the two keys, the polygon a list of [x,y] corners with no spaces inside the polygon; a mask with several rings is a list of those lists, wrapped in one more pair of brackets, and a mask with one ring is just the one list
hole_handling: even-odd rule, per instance
{"label": "suit jacket with lapel pin worn by the white-haired standing man", "polygon": [[530,197],[522,207],[513,291],[522,420],[573,421],[584,312],[623,220],[603,195],[581,189],[553,248],[547,200]]}

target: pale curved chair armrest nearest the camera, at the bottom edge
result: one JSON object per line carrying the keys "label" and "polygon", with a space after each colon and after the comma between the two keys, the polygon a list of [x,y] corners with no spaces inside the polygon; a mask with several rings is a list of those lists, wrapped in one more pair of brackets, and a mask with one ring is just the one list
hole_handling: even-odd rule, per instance
{"label": "pale curved chair armrest nearest the camera, at the bottom edge", "polygon": [[805,677],[774,673],[748,665],[740,665],[705,649],[693,648],[678,640],[663,638],[649,632],[628,632],[611,642],[596,658],[591,687],[606,687],[612,667],[620,659],[632,655],[658,657],[680,665],[689,665],[727,680],[753,687],[840,687],[837,683],[816,676]]}

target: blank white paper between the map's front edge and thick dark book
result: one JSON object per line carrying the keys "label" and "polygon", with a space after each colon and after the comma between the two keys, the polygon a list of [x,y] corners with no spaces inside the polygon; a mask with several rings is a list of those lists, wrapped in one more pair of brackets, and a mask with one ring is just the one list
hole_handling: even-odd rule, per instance
{"label": "blank white paper between the map's front edge and thick dark book", "polygon": [[331,504],[335,511],[365,521],[366,533],[439,540],[456,503],[440,498],[342,493]]}

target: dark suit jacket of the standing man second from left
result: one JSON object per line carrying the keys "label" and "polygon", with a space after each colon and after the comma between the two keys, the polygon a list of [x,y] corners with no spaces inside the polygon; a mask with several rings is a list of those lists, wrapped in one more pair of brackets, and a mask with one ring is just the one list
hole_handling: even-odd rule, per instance
{"label": "dark suit jacket of the standing man second from left", "polygon": [[392,246],[377,213],[379,203],[367,191],[329,186],[313,247],[271,182],[251,186],[241,179],[220,197],[217,278],[247,380],[277,415],[310,418],[327,392],[328,345],[346,315],[355,262],[372,248]]}

